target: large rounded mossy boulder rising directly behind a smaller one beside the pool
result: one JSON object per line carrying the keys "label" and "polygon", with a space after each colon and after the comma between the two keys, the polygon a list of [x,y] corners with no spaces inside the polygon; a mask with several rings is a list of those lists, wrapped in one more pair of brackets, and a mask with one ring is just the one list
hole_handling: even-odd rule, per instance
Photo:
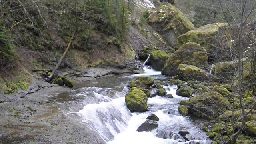
{"label": "large rounded mossy boulder rising directly behind a smaller one beside the pool", "polygon": [[202,46],[192,42],[186,43],[170,55],[162,69],[162,74],[167,76],[177,75],[177,68],[180,64],[204,67],[207,65],[207,59],[206,50]]}

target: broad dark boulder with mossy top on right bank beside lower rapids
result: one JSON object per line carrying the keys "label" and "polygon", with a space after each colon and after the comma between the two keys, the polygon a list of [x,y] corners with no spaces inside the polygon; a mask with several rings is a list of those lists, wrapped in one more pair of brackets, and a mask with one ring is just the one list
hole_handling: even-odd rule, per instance
{"label": "broad dark boulder with mossy top on right bank beside lower rapids", "polygon": [[209,91],[190,98],[189,112],[198,117],[211,116],[216,118],[226,110],[230,103],[218,92]]}

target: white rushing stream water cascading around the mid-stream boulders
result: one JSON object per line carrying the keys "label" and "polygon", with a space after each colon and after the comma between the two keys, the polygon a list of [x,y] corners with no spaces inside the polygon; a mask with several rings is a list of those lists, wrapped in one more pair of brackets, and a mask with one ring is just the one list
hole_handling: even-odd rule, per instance
{"label": "white rushing stream water cascading around the mid-stream boulders", "polygon": [[[165,82],[166,77],[151,67],[144,66],[144,73],[131,76],[115,77],[100,87],[79,88],[72,91],[72,96],[84,97],[85,105],[78,114],[108,144],[208,144],[207,136],[194,125],[189,117],[178,112],[180,100],[188,99],[176,95],[177,86],[164,86],[167,94],[173,98],[156,96],[148,98],[148,111],[131,113],[126,107],[124,98],[129,92],[127,84],[137,76],[152,76],[155,81]],[[108,83],[107,82],[107,83]],[[100,82],[95,82],[100,86]],[[151,89],[154,93],[155,89]],[[151,114],[160,118],[158,128],[151,132],[137,132],[137,128]],[[178,134],[179,130],[188,130],[193,140],[186,141]]]}

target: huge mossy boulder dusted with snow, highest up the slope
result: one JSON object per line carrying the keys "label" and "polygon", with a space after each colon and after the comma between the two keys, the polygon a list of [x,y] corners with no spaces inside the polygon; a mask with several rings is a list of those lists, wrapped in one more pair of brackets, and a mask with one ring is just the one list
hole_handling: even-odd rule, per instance
{"label": "huge mossy boulder dusted with snow, highest up the slope", "polygon": [[178,8],[167,2],[163,2],[159,8],[146,10],[143,18],[161,34],[169,46],[173,46],[178,36],[195,28]]}

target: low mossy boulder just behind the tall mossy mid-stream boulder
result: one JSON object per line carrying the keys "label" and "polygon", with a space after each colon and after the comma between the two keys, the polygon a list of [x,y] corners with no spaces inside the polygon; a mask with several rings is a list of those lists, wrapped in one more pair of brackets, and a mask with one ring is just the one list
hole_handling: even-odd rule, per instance
{"label": "low mossy boulder just behind the tall mossy mid-stream boulder", "polygon": [[137,88],[149,88],[154,84],[154,79],[148,76],[139,76],[132,82],[130,82],[130,88],[137,87]]}

